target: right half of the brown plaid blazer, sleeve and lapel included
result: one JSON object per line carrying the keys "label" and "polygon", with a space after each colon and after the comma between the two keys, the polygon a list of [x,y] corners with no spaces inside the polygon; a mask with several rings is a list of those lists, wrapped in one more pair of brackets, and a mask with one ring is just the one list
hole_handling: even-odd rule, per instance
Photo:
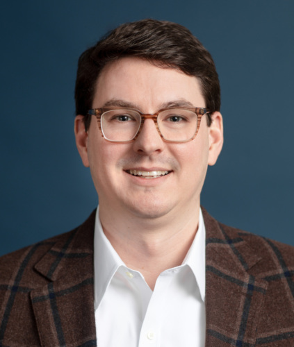
{"label": "right half of the brown plaid blazer, sleeve and lapel included", "polygon": [[206,226],[206,347],[294,346],[294,248]]}

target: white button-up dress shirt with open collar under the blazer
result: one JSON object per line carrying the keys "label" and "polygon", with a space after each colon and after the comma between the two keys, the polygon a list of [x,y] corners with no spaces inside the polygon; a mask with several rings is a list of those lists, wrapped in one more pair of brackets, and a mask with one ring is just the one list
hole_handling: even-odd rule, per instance
{"label": "white button-up dress shirt with open collar under the blazer", "polygon": [[[118,230],[119,231],[119,230]],[[163,271],[154,291],[129,269],[95,221],[95,322],[99,347],[204,347],[205,226],[181,266]]]}

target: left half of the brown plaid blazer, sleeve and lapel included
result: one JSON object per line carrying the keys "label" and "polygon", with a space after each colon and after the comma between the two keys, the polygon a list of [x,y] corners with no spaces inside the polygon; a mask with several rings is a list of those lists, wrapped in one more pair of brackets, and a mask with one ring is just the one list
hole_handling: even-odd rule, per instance
{"label": "left half of the brown plaid blazer, sleeve and lapel included", "polygon": [[94,226],[1,257],[0,346],[97,346]]}

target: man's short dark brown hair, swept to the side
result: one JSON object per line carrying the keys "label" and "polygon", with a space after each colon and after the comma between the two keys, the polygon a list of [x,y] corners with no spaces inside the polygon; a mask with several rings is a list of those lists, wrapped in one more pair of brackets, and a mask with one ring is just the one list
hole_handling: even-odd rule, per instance
{"label": "man's short dark brown hair, swept to the side", "polygon": [[[180,24],[142,19],[118,26],[81,54],[75,87],[76,115],[85,116],[86,128],[99,74],[107,64],[128,56],[197,77],[206,108],[211,113],[220,110],[220,83],[209,51]],[[207,122],[211,124],[210,115]]]}

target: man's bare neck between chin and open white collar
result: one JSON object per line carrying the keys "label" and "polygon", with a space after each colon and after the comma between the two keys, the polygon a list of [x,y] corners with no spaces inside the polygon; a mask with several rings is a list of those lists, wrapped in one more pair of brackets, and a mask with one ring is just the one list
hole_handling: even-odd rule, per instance
{"label": "man's bare neck between chin and open white collar", "polygon": [[[187,211],[186,211],[187,212]],[[199,205],[190,213],[148,219],[99,206],[104,234],[122,261],[140,271],[153,290],[161,272],[182,264],[198,228]]]}

